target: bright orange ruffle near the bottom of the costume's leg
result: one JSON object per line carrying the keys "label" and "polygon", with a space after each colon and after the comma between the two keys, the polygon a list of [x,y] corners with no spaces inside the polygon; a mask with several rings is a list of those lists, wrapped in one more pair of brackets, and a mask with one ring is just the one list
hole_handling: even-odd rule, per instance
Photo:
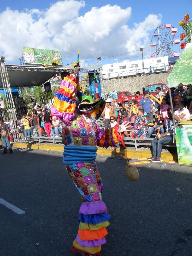
{"label": "bright orange ruffle near the bottom of the costume's leg", "polygon": [[94,239],[102,239],[104,236],[106,236],[107,229],[105,227],[102,227],[98,230],[89,230],[89,229],[79,229],[78,235],[81,238],[81,240],[94,240]]}

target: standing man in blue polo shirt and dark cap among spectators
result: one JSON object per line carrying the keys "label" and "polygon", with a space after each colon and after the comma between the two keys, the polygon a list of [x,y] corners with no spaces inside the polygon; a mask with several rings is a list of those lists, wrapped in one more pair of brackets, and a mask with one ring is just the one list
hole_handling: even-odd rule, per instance
{"label": "standing man in blue polo shirt and dark cap among spectators", "polygon": [[147,113],[149,117],[149,122],[153,123],[153,103],[149,99],[150,93],[149,90],[144,91],[144,97],[140,100],[139,107]]}

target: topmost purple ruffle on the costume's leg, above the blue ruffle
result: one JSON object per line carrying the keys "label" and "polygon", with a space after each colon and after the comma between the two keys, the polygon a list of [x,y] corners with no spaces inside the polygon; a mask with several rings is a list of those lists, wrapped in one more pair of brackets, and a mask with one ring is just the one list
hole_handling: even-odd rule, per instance
{"label": "topmost purple ruffle on the costume's leg, above the blue ruffle", "polygon": [[92,203],[82,203],[79,213],[81,214],[98,214],[107,212],[107,207],[103,201],[92,202]]}

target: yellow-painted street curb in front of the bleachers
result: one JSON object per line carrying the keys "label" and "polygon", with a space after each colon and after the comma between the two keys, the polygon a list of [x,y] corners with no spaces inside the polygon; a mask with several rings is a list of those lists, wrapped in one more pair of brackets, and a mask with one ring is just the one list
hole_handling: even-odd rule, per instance
{"label": "yellow-painted street curb in front of the bleachers", "polygon": [[[30,149],[37,149],[37,150],[51,150],[51,151],[61,151],[63,152],[63,146],[53,146],[53,145],[39,145],[39,144],[24,144],[24,143],[14,143],[14,147],[17,148],[30,148]],[[117,157],[123,157],[123,158],[134,158],[139,160],[146,160],[147,158],[151,157],[151,151],[135,151],[131,149],[124,150],[122,149],[120,153],[116,153],[115,151],[112,151],[111,149],[105,149],[105,148],[98,148],[97,149],[98,155],[105,155],[105,156],[117,156]],[[162,153],[161,154],[161,160],[163,161],[178,161],[177,154],[171,154],[171,153]]]}

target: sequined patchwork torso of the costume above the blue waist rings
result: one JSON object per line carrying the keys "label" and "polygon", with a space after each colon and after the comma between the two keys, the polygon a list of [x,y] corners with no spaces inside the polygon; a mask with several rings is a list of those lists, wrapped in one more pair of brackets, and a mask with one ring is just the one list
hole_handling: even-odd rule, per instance
{"label": "sequined patchwork torso of the costume above the blue waist rings", "polygon": [[97,146],[96,133],[94,122],[76,113],[71,126],[63,124],[63,143],[66,146],[71,143],[74,143],[74,146]]}

